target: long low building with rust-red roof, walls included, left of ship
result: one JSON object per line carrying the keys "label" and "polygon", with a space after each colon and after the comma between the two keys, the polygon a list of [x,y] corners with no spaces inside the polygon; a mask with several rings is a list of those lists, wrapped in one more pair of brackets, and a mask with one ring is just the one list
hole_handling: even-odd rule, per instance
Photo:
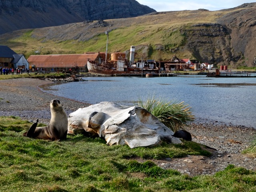
{"label": "long low building with rust-red roof, walls included, left of ship", "polygon": [[60,55],[31,55],[28,58],[30,69],[44,71],[78,70],[88,72],[87,61],[100,60],[100,53],[60,54]]}

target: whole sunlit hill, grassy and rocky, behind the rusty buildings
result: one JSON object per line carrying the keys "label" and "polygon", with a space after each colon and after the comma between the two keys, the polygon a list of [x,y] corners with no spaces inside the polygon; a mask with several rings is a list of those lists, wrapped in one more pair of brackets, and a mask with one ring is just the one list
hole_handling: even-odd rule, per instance
{"label": "whole sunlit hill, grassy and rocky, behind the rusty buildings", "polygon": [[256,66],[256,3],[209,11],[152,12],[134,18],[86,20],[61,26],[18,30],[0,35],[26,58],[31,54],[75,54],[136,46],[139,58],[189,58],[216,66]]}

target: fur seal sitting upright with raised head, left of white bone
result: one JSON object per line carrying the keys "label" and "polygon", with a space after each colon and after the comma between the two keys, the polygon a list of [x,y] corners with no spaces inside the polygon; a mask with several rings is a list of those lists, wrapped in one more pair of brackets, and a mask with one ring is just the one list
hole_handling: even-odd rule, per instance
{"label": "fur seal sitting upright with raised head, left of white bone", "polygon": [[50,102],[51,120],[45,127],[36,127],[38,120],[23,135],[30,138],[59,141],[67,138],[68,116],[64,111],[60,100],[54,99]]}

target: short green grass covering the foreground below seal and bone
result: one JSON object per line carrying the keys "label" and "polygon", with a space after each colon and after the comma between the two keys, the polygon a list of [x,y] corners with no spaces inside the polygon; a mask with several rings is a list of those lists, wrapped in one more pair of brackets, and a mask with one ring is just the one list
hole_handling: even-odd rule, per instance
{"label": "short green grass covering the foreground below seal and bone", "polygon": [[[255,191],[256,172],[228,166],[213,176],[182,175],[150,159],[209,156],[194,142],[130,149],[107,146],[101,138],[68,136],[50,142],[22,136],[32,125],[14,116],[0,117],[1,192],[166,192]],[[42,126],[42,125],[40,125]],[[141,157],[137,162],[131,157]]]}

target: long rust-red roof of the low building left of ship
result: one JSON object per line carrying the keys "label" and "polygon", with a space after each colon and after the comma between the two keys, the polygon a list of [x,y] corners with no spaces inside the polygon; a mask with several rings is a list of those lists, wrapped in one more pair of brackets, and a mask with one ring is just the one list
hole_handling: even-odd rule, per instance
{"label": "long rust-red roof of the low building left of ship", "polygon": [[98,53],[63,54],[63,55],[31,55],[28,62],[36,67],[84,67],[88,60],[97,60]]}

